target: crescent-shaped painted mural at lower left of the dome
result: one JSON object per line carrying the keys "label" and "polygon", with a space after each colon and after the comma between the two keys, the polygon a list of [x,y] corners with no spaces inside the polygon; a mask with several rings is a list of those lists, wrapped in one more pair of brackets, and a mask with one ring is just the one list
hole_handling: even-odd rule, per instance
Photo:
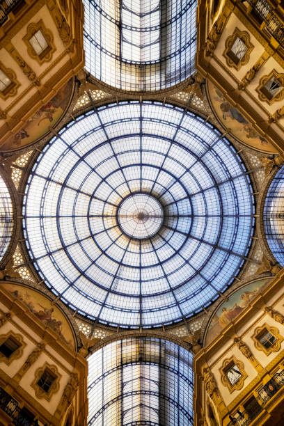
{"label": "crescent-shaped painted mural at lower left of the dome", "polygon": [[22,301],[43,324],[49,326],[65,343],[74,349],[74,337],[68,320],[56,305],[52,305],[47,297],[22,285],[10,283],[1,283],[1,285]]}

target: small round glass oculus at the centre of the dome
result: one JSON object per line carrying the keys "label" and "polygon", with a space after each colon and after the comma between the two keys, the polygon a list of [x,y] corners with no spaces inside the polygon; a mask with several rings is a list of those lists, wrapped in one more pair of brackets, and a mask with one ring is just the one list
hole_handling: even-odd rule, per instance
{"label": "small round glass oculus at the centre of the dome", "polygon": [[130,238],[148,239],[159,232],[164,210],[157,198],[149,194],[127,196],[118,207],[118,225]]}

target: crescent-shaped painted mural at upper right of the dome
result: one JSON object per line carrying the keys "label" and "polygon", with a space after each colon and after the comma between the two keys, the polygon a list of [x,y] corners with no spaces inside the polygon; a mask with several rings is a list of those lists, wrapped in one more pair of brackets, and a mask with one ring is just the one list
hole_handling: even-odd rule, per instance
{"label": "crescent-shaped painted mural at upper right of the dome", "polygon": [[260,136],[252,125],[246,121],[237,109],[226,100],[223,93],[217,89],[210,81],[207,84],[207,92],[216,118],[235,138],[250,148],[261,150],[262,152],[276,152],[271,143]]}

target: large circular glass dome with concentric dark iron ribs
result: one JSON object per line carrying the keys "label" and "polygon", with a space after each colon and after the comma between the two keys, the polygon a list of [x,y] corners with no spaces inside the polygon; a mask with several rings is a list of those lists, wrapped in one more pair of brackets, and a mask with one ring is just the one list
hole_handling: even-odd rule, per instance
{"label": "large circular glass dome with concentric dark iron ribs", "polygon": [[24,196],[33,264],[102,323],[158,326],[202,310],[242,266],[252,189],[230,143],[170,105],[90,111],[46,146]]}

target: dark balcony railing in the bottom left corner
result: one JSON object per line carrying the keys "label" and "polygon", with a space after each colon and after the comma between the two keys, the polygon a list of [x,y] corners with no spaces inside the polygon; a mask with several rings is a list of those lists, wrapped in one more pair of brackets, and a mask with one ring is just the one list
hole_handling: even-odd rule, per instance
{"label": "dark balcony railing in the bottom left corner", "polygon": [[12,419],[15,426],[38,426],[38,420],[29,419],[19,408],[19,403],[2,388],[0,388],[0,409]]}

